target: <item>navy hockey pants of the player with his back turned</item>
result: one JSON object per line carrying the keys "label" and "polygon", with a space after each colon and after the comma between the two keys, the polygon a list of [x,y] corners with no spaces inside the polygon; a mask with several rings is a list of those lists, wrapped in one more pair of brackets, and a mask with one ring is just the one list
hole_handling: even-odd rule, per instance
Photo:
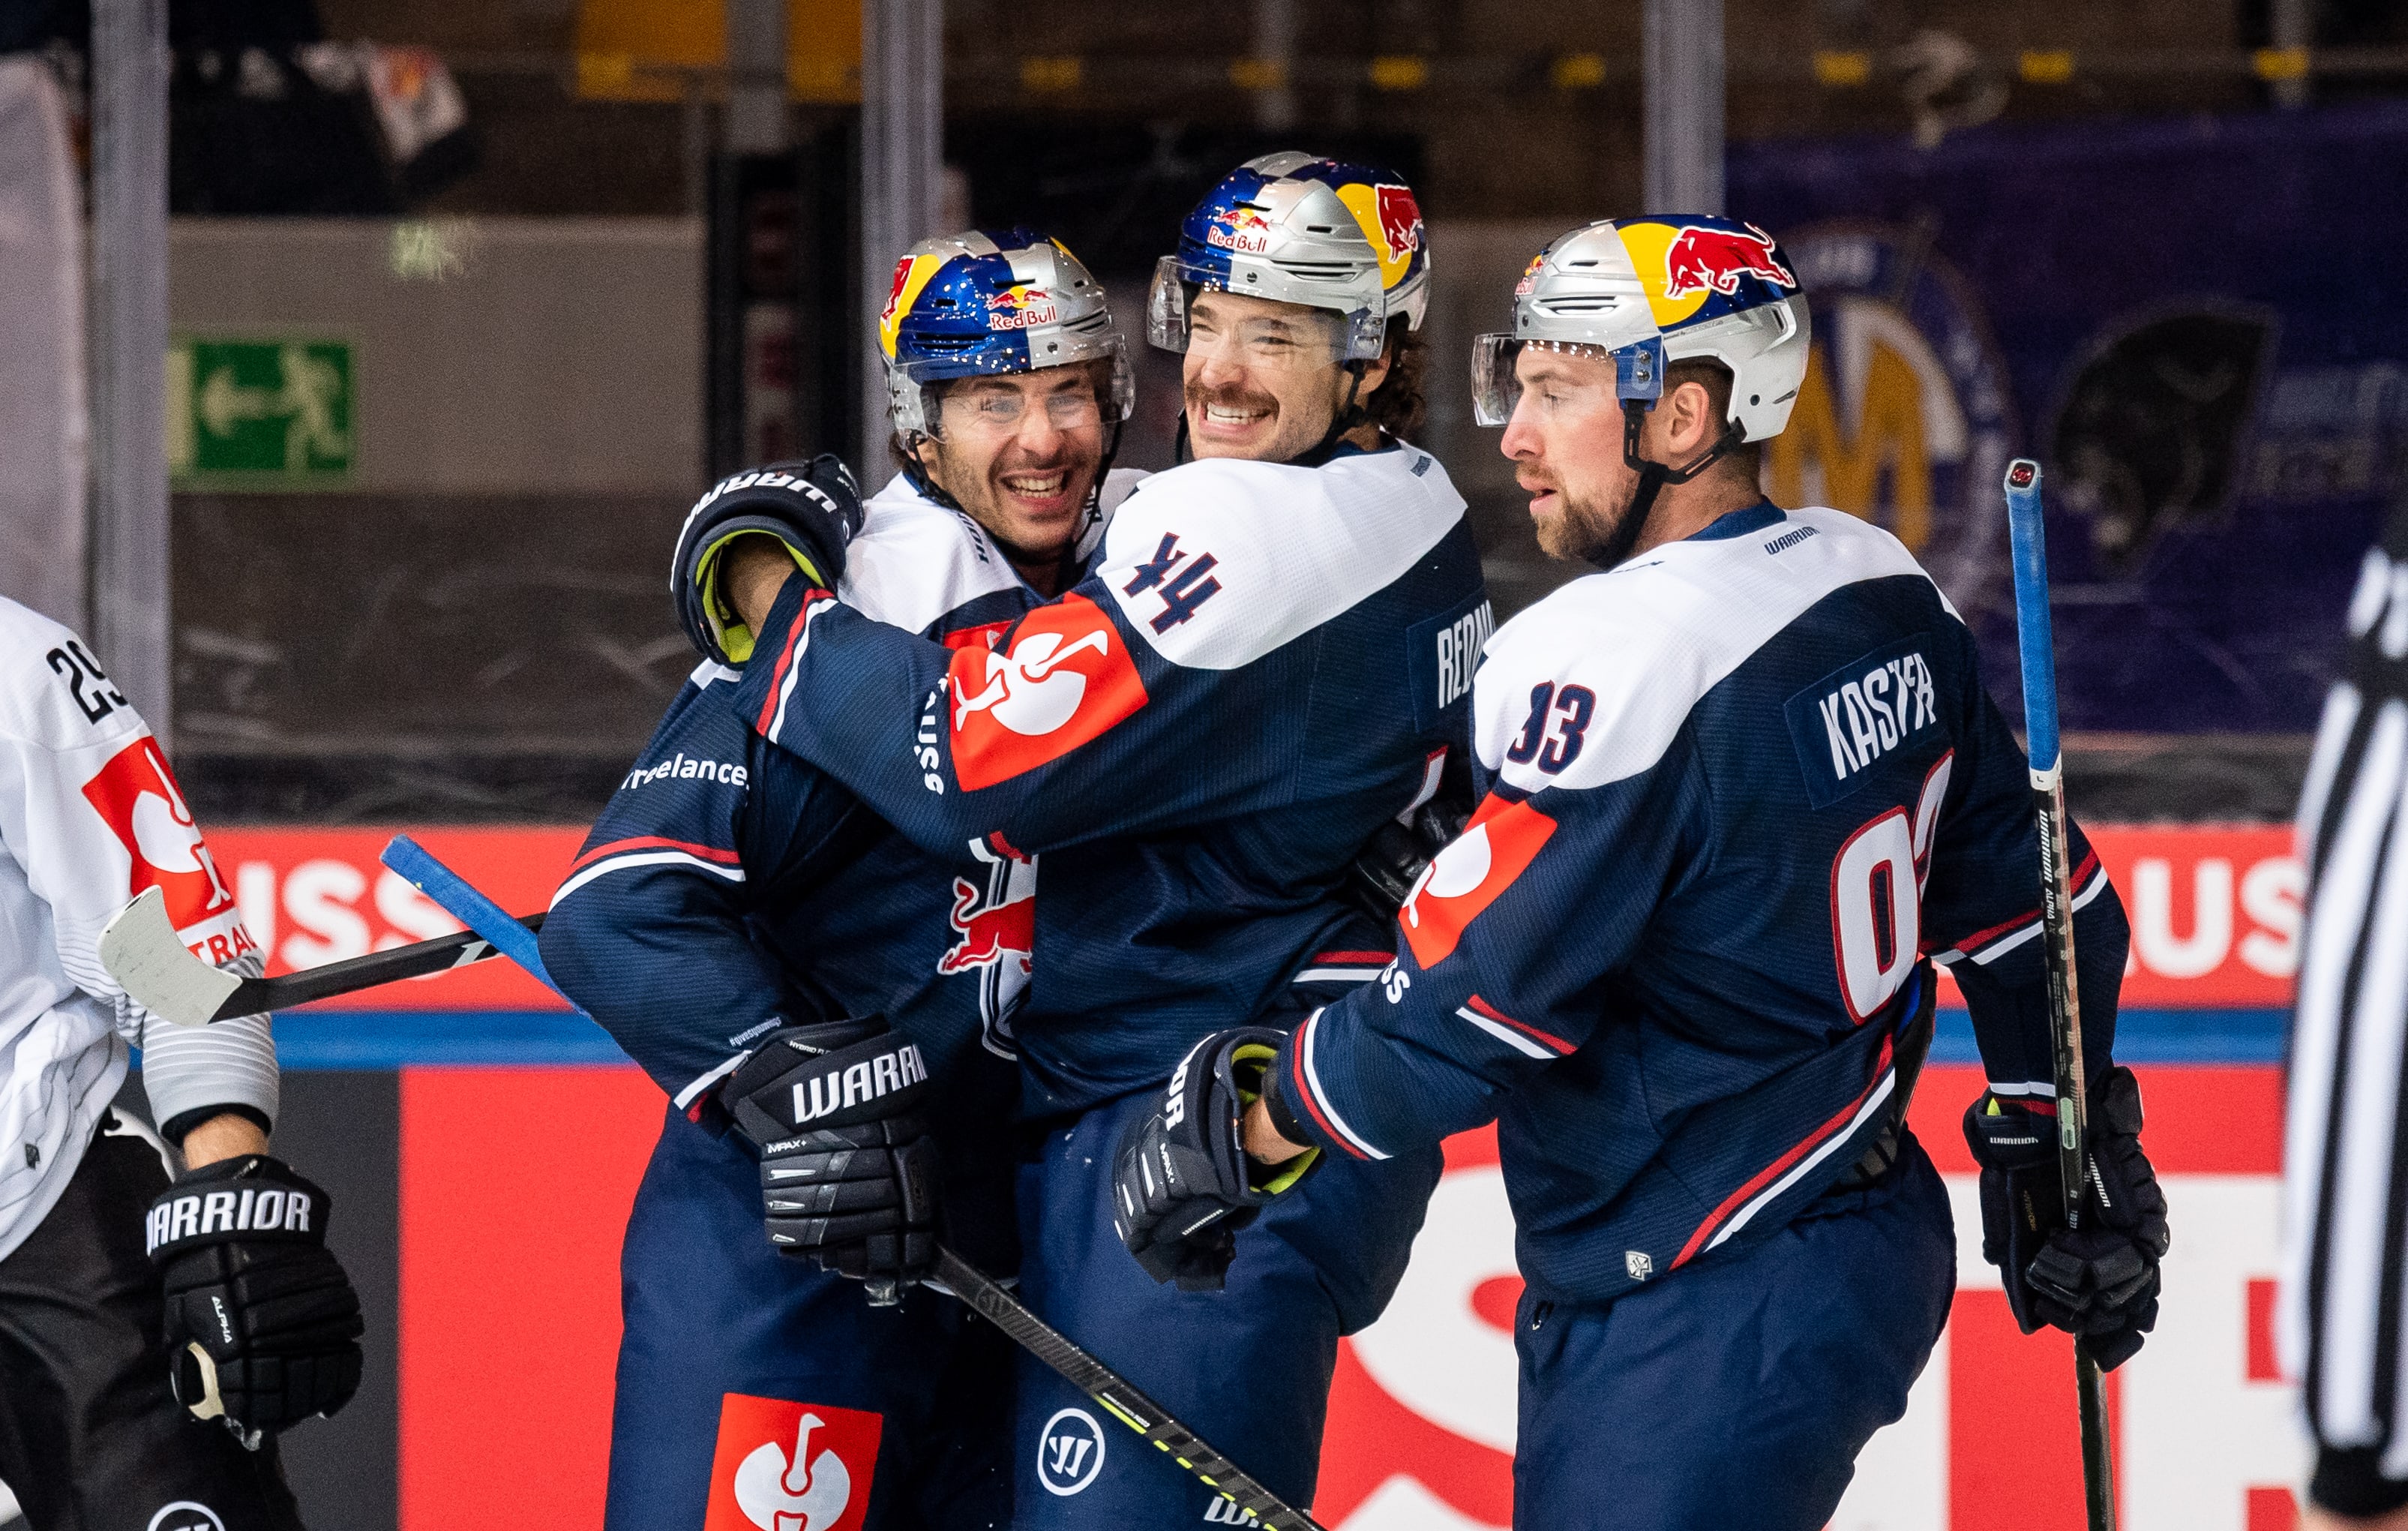
{"label": "navy hockey pants of the player with his back turned", "polygon": [[1609,1305],[1524,1293],[1515,1526],[1818,1531],[1953,1295],[1948,1189],[1912,1136],[1876,1187]]}

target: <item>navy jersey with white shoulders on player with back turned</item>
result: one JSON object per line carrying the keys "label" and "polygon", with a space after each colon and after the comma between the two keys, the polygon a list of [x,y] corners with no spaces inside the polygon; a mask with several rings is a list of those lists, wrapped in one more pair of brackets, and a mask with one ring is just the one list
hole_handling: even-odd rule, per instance
{"label": "navy jersey with white shoulders on player with back turned", "polygon": [[[2025,756],[1972,633],[1852,515],[1734,510],[1498,628],[1486,799],[1279,1103],[1385,1158],[1498,1119],[1522,1273],[1604,1300],[1784,1225],[1890,1129],[1946,963],[2052,1095]],[[2093,1078],[2121,905],[2076,830]]]}

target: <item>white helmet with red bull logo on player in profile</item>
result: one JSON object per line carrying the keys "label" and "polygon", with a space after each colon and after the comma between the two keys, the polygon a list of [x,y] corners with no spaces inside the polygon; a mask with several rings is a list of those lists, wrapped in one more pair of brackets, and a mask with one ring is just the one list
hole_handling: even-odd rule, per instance
{"label": "white helmet with red bull logo on player in profile", "polygon": [[1529,262],[1512,335],[1471,342],[1471,409],[1483,426],[1512,419],[1524,344],[1611,356],[1621,400],[1640,407],[1662,397],[1674,361],[1719,361],[1731,371],[1739,441],[1765,441],[1789,426],[1811,335],[1796,267],[1755,224],[1599,219]]}

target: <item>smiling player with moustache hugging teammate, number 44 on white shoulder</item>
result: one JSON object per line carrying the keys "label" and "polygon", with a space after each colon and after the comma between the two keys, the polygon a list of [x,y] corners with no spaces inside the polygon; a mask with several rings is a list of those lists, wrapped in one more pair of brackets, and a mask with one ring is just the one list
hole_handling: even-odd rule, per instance
{"label": "smiling player with moustache hugging teammate, number 44 on white shoulder", "polygon": [[[766,616],[751,563],[730,551],[725,571],[768,636],[732,693],[749,727],[929,852],[1043,852],[1016,1023],[1023,1112],[1045,1129],[1019,1182],[1023,1297],[1296,1502],[1339,1334],[1394,1290],[1435,1143],[1329,1165],[1276,1196],[1235,1266],[1202,1247],[1151,1278],[1117,1249],[1110,1146],[1197,1038],[1293,1023],[1389,958],[1332,893],[1462,761],[1488,623],[1464,501],[1404,441],[1426,303],[1406,185],[1257,159],[1156,274],[1149,335],[1185,356],[1197,460],[1122,503],[1060,599],[946,652],[787,580],[787,551],[766,558],[785,580]],[[795,556],[826,573],[840,520],[785,527]],[[713,537],[689,527],[686,546]],[[1264,1177],[1267,1199],[1288,1177]],[[1233,1355],[1240,1377],[1221,1370]],[[1218,1505],[1050,1372],[1023,1362],[1021,1384],[1016,1526],[1192,1524]]]}

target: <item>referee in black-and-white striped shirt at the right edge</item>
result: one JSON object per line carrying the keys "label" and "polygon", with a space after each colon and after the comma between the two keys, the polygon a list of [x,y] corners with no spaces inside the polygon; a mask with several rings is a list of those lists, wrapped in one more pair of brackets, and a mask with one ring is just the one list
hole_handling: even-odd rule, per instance
{"label": "referee in black-and-white striped shirt at the right edge", "polygon": [[2300,799],[2309,869],[2290,1033],[2285,1370],[2316,1437],[2307,1526],[2408,1531],[2408,506],[2350,597]]}

